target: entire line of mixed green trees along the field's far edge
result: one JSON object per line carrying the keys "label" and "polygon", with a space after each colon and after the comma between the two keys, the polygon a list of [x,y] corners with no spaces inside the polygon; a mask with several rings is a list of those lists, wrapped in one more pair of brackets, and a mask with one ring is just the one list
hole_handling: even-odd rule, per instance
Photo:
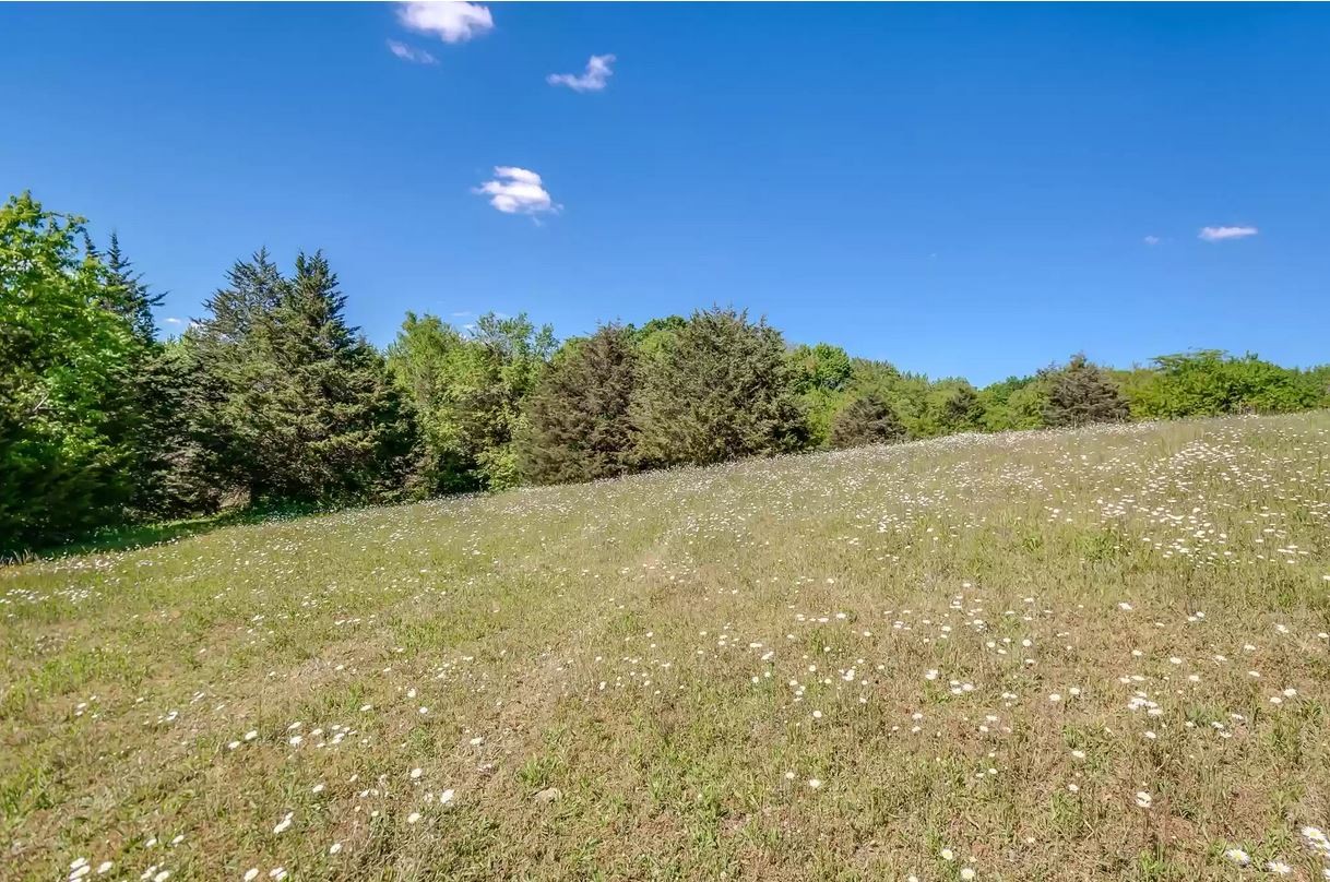
{"label": "entire line of mixed green trees along the field's far edge", "polygon": [[1222,351],[1073,355],[976,388],[729,307],[559,341],[525,315],[408,313],[379,351],[321,253],[237,261],[161,339],[112,235],[0,209],[0,551],[226,507],[351,504],[614,478],[966,431],[1330,406],[1330,366]]}

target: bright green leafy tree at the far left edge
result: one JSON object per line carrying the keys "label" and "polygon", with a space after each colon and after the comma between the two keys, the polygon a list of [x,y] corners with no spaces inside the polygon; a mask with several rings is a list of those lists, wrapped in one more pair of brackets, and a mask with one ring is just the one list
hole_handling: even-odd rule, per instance
{"label": "bright green leafy tree at the far left edge", "polygon": [[122,517],[140,351],[82,220],[0,208],[0,549]]}

